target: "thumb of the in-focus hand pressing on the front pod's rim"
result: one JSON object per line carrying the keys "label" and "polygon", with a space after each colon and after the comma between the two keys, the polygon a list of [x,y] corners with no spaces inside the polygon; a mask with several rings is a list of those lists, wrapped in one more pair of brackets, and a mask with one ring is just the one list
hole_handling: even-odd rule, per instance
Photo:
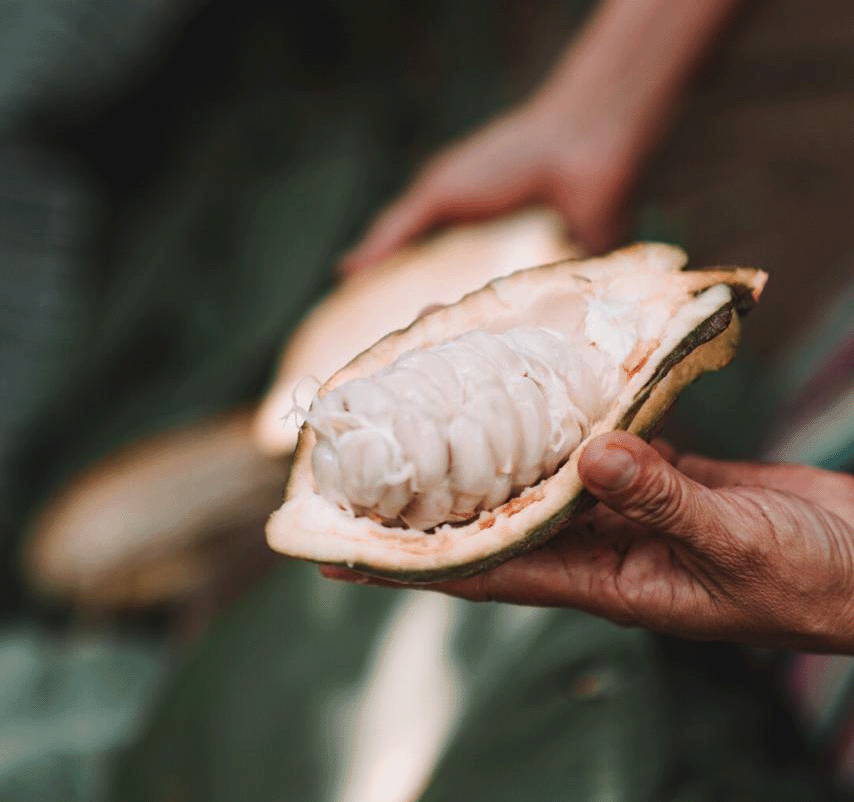
{"label": "thumb of the in-focus hand pressing on the front pod's rim", "polygon": [[705,551],[714,550],[716,535],[731,520],[724,499],[628,432],[591,441],[578,471],[584,486],[615,512]]}

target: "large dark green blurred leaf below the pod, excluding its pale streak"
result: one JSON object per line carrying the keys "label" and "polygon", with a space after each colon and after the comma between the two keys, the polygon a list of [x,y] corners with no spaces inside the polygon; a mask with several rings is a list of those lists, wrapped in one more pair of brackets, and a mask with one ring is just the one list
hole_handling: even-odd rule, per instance
{"label": "large dark green blurred leaf below the pod, excluding its pale streak", "polygon": [[[278,568],[173,678],[116,802],[331,799],[366,657],[400,603]],[[736,681],[735,651],[710,660],[715,647],[567,610],[453,605],[462,718],[425,802],[814,798],[802,757],[771,747],[789,724],[769,688]]]}

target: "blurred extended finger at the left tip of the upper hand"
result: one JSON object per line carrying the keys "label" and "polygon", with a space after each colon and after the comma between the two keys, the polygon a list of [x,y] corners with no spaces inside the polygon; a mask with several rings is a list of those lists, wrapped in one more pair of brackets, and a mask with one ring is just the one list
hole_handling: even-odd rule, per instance
{"label": "blurred extended finger at the left tip of the upper hand", "polygon": [[343,257],[341,270],[355,273],[385,259],[430,228],[440,211],[434,193],[416,184],[377,218],[362,241]]}

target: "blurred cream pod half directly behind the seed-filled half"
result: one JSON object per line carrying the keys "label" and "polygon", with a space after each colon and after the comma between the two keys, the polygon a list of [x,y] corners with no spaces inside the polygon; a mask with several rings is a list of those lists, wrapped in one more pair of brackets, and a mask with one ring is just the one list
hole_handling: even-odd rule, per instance
{"label": "blurred cream pod half directly behind the seed-filled half", "polygon": [[556,212],[530,208],[449,227],[346,278],[290,338],[255,417],[256,443],[275,456],[294,450],[298,429],[288,412],[295,395],[306,404],[306,377],[325,381],[383,335],[408,326],[426,307],[455,303],[513,270],[579,253]]}

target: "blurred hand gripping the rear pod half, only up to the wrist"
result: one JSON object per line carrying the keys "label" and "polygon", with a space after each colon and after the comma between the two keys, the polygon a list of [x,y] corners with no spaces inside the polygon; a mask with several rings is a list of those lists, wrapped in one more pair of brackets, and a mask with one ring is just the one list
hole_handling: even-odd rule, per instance
{"label": "blurred hand gripping the rear pod half, only up to the wrist", "polygon": [[[589,113],[588,113],[588,116]],[[604,121],[603,121],[604,124]],[[556,209],[592,251],[613,245],[635,173],[632,154],[608,154],[556,107],[506,114],[431,159],[342,260],[368,268],[441,224],[487,218],[528,203]]]}

